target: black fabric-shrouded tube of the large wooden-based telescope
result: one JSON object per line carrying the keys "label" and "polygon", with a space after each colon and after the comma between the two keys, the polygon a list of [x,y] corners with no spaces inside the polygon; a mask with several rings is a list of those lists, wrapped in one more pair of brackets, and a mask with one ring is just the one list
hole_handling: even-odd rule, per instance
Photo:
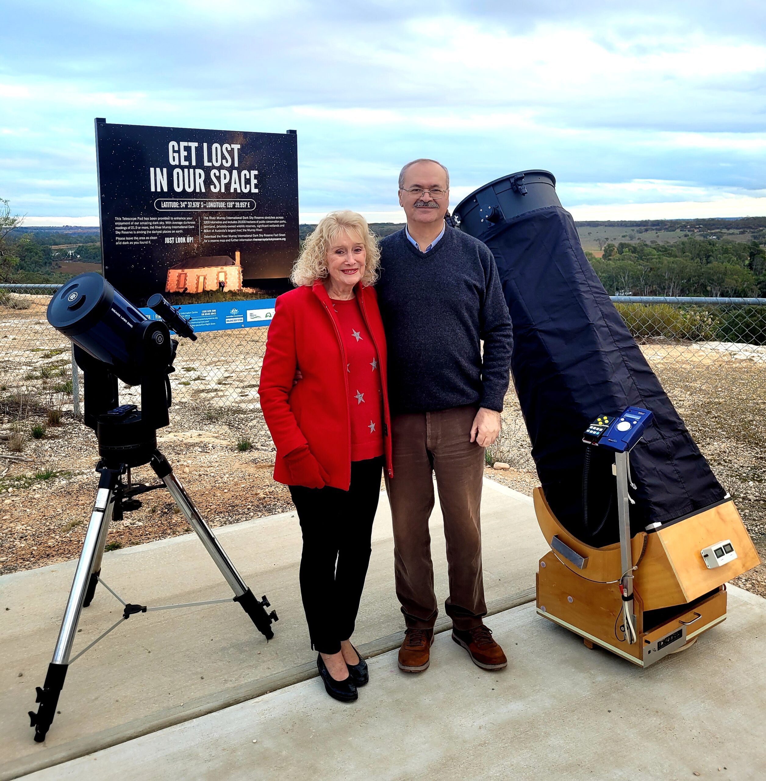
{"label": "black fabric-shrouded tube of the large wooden-based telescope", "polygon": [[[513,322],[511,370],[540,484],[575,537],[589,540],[592,533],[583,518],[586,427],[629,406],[654,413],[654,425],[631,453],[635,534],[722,501],[725,491],[586,259],[554,184],[544,171],[510,174],[479,187],[453,215],[494,255]],[[588,490],[599,501],[590,509],[600,517],[607,507],[609,520],[598,545],[618,541],[616,513],[608,508],[614,490],[611,458],[599,448]]]}

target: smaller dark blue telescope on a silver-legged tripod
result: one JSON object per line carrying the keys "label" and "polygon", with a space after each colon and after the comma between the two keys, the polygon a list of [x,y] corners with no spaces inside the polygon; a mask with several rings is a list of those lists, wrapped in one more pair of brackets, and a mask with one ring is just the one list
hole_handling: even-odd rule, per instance
{"label": "smaller dark blue telescope on a silver-legged tripod", "polygon": [[[169,423],[169,374],[174,370],[173,360],[178,346],[178,342],[170,338],[170,329],[192,340],[197,337],[191,325],[161,295],[149,298],[148,305],[162,319],[148,319],[96,273],[76,276],[55,294],[48,305],[48,323],[73,342],[74,358],[83,370],[84,422],[96,432],[101,460],[96,465],[100,474],[96,500],[66,602],[59,639],[52,662],[48,665],[45,685],[37,687],[40,708],[37,712],[30,711],[31,726],[35,729],[34,740],[38,743],[45,740],[53,721],[69,664],[120,623],[137,613],[229,601],[218,599],[148,607],[125,602],[106,586],[100,576],[109,522],[121,520],[123,512],[140,507],[141,503],[134,498],[139,494],[167,488],[229,583],[234,592],[233,601],[241,604],[266,640],[274,636],[271,622],[277,620],[276,612],[265,612],[269,601],[265,596],[258,601],[244,583],[180,480],[173,474],[173,468],[157,449],[157,429]],[[118,378],[128,385],[141,386],[141,409],[134,404],[119,404]],[[131,482],[130,469],[144,464],[151,465],[162,483],[146,486]],[[123,476],[126,476],[127,483],[123,483]],[[123,615],[101,637],[71,658],[80,611],[91,604],[98,583],[102,583],[123,604]]]}

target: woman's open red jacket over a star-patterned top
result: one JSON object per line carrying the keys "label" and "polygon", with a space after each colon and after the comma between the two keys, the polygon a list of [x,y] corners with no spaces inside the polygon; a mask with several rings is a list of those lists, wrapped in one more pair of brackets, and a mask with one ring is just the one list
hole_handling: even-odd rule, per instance
{"label": "woman's open red jacket over a star-patterned top", "polygon": [[[362,317],[375,343],[383,387],[383,444],[389,476],[391,418],[387,394],[386,336],[372,287],[356,286]],[[293,386],[295,370],[303,379]],[[261,409],[276,445],[274,480],[301,484],[284,456],[308,444],[330,476],[326,484],[348,490],[351,483],[351,421],[346,357],[330,296],[321,281],[276,299],[258,387]]]}

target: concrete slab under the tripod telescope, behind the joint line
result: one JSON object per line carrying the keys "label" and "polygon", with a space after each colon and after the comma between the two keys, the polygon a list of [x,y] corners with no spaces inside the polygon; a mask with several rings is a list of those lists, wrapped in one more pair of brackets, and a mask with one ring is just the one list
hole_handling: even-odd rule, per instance
{"label": "concrete slab under the tripod telescope, behind the joint line", "polygon": [[[532,599],[537,561],[548,550],[532,500],[487,480],[482,525],[490,609],[497,612]],[[438,503],[431,526],[436,594],[443,603],[447,565]],[[90,754],[315,675],[298,585],[297,517],[285,513],[223,526],[216,535],[255,594],[268,594],[280,615],[274,639],[267,644],[233,602],[131,616],[71,665],[59,700],[61,712],[44,744],[34,743],[27,711],[37,710],[34,687],[45,679],[76,562],[0,577],[0,779]],[[404,622],[394,593],[393,561],[383,492],[354,633],[354,644],[363,653],[387,651],[401,642],[397,633]],[[163,605],[233,596],[193,534],[106,553],[102,576],[126,602]],[[121,613],[119,602],[98,587],[83,611],[74,653]]]}

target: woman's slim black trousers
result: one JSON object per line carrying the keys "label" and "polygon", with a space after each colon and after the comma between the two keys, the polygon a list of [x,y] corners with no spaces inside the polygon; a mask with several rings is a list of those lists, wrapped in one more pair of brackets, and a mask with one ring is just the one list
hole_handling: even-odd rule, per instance
{"label": "woman's slim black trousers", "polygon": [[351,462],[347,491],[289,486],[303,533],[303,609],[312,648],[322,654],[337,654],[354,633],[382,474],[380,456]]}

